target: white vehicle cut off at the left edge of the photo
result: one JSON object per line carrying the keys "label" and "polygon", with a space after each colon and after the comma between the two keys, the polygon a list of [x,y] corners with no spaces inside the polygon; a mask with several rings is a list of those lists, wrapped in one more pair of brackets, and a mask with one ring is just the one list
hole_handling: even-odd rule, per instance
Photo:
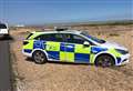
{"label": "white vehicle cut off at the left edge of the photo", "polygon": [[0,36],[8,37],[9,28],[7,23],[0,23]]}

